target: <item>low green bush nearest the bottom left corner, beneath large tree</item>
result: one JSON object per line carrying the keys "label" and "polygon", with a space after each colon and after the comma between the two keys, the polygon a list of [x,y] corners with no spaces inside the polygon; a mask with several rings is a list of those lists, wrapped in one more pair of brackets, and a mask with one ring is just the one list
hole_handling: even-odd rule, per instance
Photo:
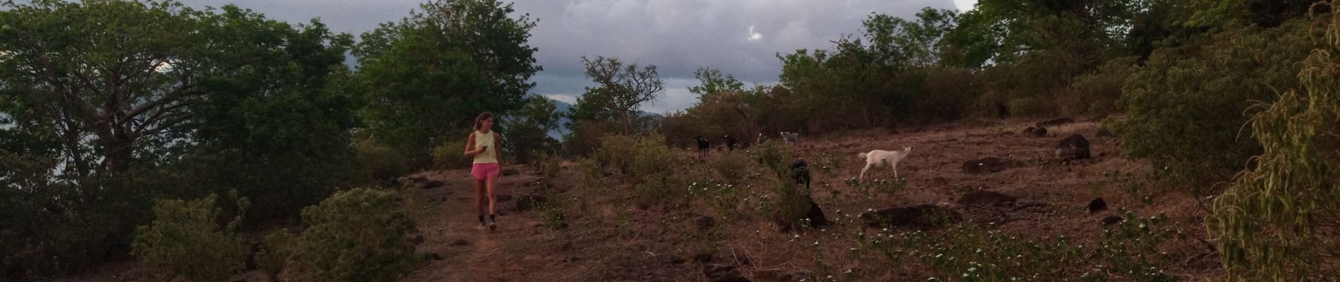
{"label": "low green bush nearest the bottom left corner, beneath large tree", "polygon": [[[221,210],[216,195],[198,200],[157,200],[154,223],[137,229],[131,245],[137,258],[154,269],[163,281],[177,275],[189,281],[228,281],[243,270],[245,246],[237,241],[237,215],[228,226],[218,226]],[[239,210],[247,208],[239,199]]]}

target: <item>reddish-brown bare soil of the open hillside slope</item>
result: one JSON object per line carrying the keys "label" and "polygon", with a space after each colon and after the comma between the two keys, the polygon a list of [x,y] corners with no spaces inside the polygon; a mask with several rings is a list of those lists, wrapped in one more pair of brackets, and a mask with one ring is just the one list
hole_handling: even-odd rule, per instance
{"label": "reddish-brown bare soil of the open hillside slope", "polygon": [[[1175,262],[1162,266],[1164,271],[1183,281],[1222,277],[1217,254],[1211,255],[1203,241],[1207,203],[1199,203],[1198,196],[1186,190],[1144,182],[1151,166],[1122,158],[1118,139],[1099,136],[1095,120],[1052,126],[1047,136],[1021,134],[1036,122],[953,123],[900,128],[899,134],[860,130],[801,136],[795,152],[811,162],[813,198],[829,219],[838,221],[801,233],[780,233],[770,221],[757,215],[724,218],[705,204],[636,204],[631,184],[618,182],[616,176],[611,176],[615,184],[607,187],[576,187],[574,168],[561,170],[556,179],[541,179],[537,171],[521,164],[504,167],[519,174],[501,178],[498,194],[508,200],[497,207],[500,227],[477,230],[469,171],[421,172],[413,176],[441,180],[445,186],[403,187],[401,191],[406,195],[406,208],[418,221],[419,233],[411,237],[423,237],[418,251],[436,253],[441,259],[425,262],[401,281],[708,281],[705,263],[699,262],[706,258],[709,263],[732,265],[752,281],[784,281],[785,277],[779,277],[785,274],[793,275],[789,281],[800,281],[807,278],[804,275],[847,270],[856,281],[946,277],[929,265],[895,263],[850,251],[855,247],[852,234],[867,229],[855,215],[868,208],[918,204],[947,207],[1006,234],[1065,235],[1087,245],[1101,238],[1101,219],[1116,214],[1119,207],[1142,217],[1163,213],[1171,218],[1171,227],[1190,235],[1163,246]],[[1064,162],[1055,158],[1056,143],[1071,134],[1081,134],[1089,140],[1091,159]],[[907,146],[914,147],[913,152],[898,168],[898,175],[907,179],[906,190],[894,195],[862,194],[843,183],[843,179],[856,178],[864,166],[858,152]],[[683,154],[694,152],[685,150]],[[992,174],[962,171],[965,162],[988,156],[1024,164]],[[820,159],[832,162],[819,163]],[[824,164],[832,166],[832,172],[817,167]],[[1130,172],[1134,180],[1110,176],[1115,172]],[[888,179],[892,172],[871,168],[866,178]],[[1014,196],[1014,207],[1034,206],[1014,210],[957,203],[965,192],[980,190]],[[544,191],[563,202],[565,227],[545,225],[543,211],[516,208],[523,195]],[[1096,196],[1110,208],[1087,211]],[[695,225],[704,217],[713,218],[712,231]],[[817,249],[812,247],[815,242]],[[816,262],[821,262],[823,269]],[[113,277],[137,277],[125,273]],[[265,281],[255,271],[241,278]]]}

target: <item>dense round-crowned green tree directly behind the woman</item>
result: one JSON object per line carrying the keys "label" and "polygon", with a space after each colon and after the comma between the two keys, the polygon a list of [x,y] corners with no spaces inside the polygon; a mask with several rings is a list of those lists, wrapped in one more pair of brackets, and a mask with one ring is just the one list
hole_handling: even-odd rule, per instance
{"label": "dense round-crowned green tree directly behind the woman", "polygon": [[535,21],[509,17],[512,4],[434,0],[421,7],[363,33],[355,49],[368,90],[367,130],[411,156],[461,138],[480,112],[520,108],[535,87],[531,75],[540,71],[527,43]]}

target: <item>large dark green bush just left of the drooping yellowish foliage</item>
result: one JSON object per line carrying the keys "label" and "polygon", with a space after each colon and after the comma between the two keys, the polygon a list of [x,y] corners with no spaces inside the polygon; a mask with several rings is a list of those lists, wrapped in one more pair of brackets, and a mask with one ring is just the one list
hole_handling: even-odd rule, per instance
{"label": "large dark green bush just left of the drooping yellowish foliage", "polygon": [[1155,51],[1123,88],[1122,151],[1154,160],[1174,183],[1227,180],[1261,144],[1244,130],[1254,102],[1297,88],[1308,28],[1242,28],[1206,44]]}

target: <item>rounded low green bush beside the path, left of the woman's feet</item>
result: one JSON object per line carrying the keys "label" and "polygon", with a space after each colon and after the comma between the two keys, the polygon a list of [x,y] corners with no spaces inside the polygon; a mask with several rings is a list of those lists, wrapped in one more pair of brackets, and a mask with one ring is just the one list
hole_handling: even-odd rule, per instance
{"label": "rounded low green bush beside the path, left of the woman's feet", "polygon": [[335,192],[303,208],[303,222],[308,227],[288,257],[299,281],[395,281],[418,259],[406,238],[414,221],[393,191]]}

